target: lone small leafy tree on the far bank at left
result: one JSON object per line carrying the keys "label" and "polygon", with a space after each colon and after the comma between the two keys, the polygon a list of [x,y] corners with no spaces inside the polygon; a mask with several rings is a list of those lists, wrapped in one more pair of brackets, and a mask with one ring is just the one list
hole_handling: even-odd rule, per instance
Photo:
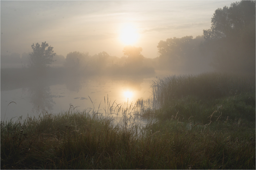
{"label": "lone small leafy tree on the far bank at left", "polygon": [[29,54],[30,67],[43,69],[54,62],[52,58],[56,53],[54,53],[53,47],[49,46],[46,41],[42,42],[41,46],[39,43],[36,43],[36,45],[33,43],[31,47],[33,52]]}

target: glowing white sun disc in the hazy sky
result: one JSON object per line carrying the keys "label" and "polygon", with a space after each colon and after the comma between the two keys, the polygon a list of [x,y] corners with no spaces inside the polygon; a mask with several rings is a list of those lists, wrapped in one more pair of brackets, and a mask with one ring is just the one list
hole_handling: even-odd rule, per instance
{"label": "glowing white sun disc in the hazy sky", "polygon": [[124,24],[120,31],[120,40],[125,45],[132,45],[138,41],[139,34],[132,24]]}

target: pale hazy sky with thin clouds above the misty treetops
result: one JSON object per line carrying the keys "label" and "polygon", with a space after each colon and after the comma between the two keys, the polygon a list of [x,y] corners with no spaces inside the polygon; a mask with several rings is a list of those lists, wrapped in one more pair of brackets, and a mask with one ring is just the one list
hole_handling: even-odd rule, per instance
{"label": "pale hazy sky with thin clouds above the misty treetops", "polygon": [[121,57],[126,35],[155,58],[160,40],[202,35],[215,10],[233,2],[1,1],[1,54],[31,52],[31,44],[46,41],[65,57],[73,51]]}

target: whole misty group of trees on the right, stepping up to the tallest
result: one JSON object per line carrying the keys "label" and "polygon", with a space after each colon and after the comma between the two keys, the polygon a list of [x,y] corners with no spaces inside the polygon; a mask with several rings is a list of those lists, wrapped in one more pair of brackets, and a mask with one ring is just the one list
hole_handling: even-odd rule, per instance
{"label": "whole misty group of trees on the right, stepping up to the tallest", "polygon": [[221,72],[255,73],[255,1],[218,8],[203,36],[169,38],[158,43],[165,69],[193,70],[210,65]]}

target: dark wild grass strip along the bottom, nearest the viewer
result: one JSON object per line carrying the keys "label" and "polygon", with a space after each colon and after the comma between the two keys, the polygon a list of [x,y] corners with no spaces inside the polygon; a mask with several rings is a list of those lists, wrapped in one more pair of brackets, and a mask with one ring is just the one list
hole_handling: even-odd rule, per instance
{"label": "dark wild grass strip along the bottom, nearest the viewer", "polygon": [[1,169],[255,169],[255,123],[186,122],[148,123],[140,134],[86,112],[2,122]]}

